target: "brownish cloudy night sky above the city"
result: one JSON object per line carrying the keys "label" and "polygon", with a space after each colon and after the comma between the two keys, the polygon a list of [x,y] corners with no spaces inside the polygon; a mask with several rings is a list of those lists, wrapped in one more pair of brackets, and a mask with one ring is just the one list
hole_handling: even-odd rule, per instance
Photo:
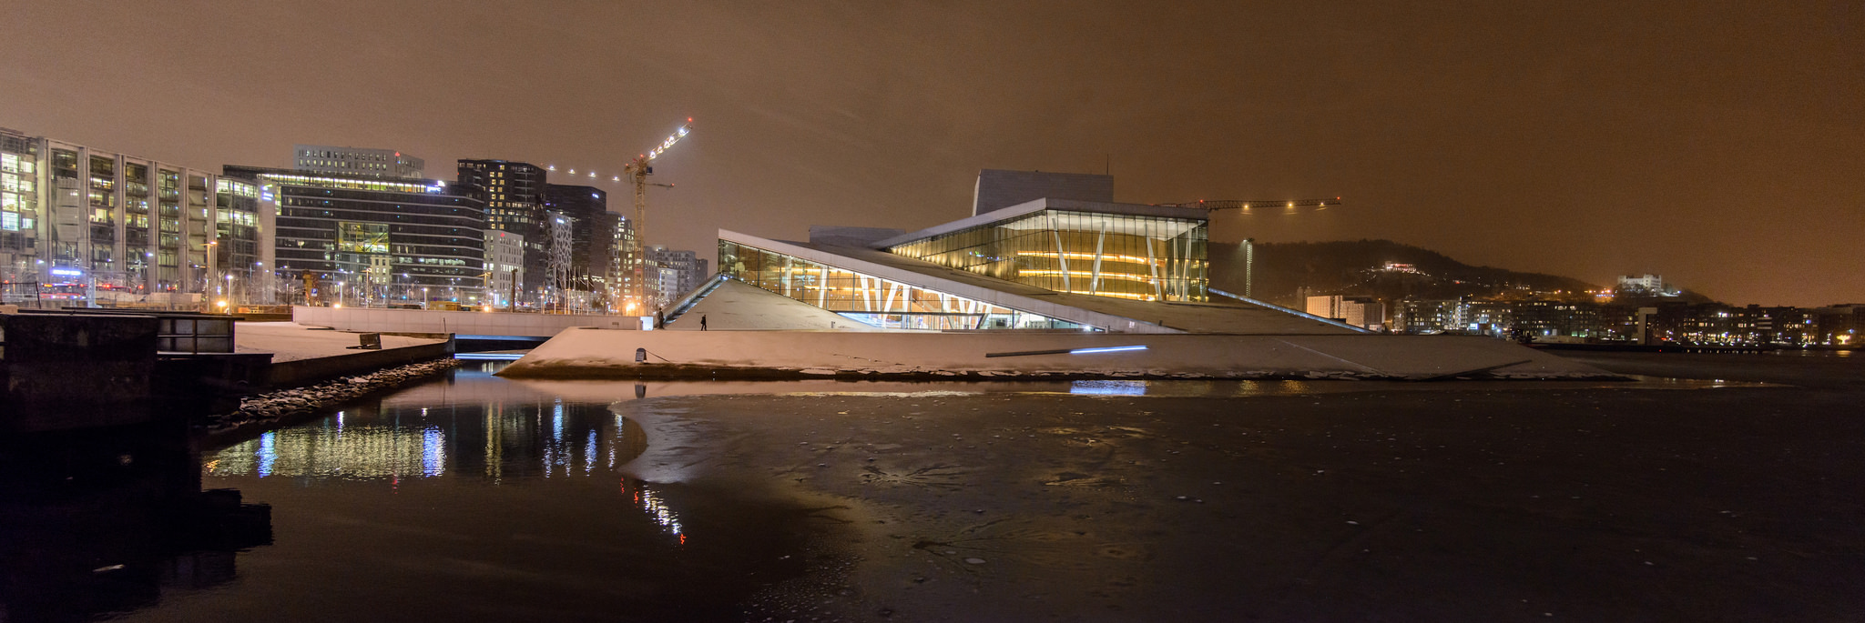
{"label": "brownish cloudy night sky above the city", "polygon": [[306,142],[606,179],[692,116],[649,229],[707,256],[716,228],[923,228],[979,168],[1112,160],[1121,201],[1348,201],[1222,239],[1865,302],[1865,4],[1419,6],[19,2],[0,125],[200,168]]}

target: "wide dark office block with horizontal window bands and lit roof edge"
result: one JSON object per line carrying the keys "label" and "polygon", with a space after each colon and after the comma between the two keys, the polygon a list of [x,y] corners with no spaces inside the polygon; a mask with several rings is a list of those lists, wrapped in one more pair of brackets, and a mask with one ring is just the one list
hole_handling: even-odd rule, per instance
{"label": "wide dark office block with horizontal window bands and lit roof edge", "polygon": [[298,170],[226,166],[276,211],[276,272],[291,300],[476,304],[485,285],[485,207],[466,188]]}

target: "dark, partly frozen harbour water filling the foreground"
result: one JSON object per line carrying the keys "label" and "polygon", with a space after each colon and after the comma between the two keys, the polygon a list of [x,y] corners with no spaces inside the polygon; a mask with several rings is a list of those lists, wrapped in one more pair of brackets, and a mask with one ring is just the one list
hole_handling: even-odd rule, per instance
{"label": "dark, partly frozen harbour water filling the foreground", "polygon": [[270,504],[274,541],[224,582],[93,614],[1861,619],[1858,364],[1796,362],[1811,388],[1250,397],[638,399],[463,371],[203,453],[201,485]]}

